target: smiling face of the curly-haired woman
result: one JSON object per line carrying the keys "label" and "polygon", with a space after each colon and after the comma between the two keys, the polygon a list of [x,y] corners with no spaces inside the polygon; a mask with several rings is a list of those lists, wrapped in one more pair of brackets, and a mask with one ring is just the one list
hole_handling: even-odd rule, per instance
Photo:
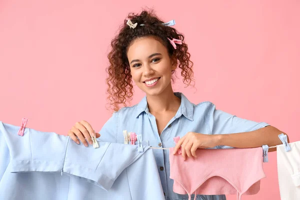
{"label": "smiling face of the curly-haired woman", "polygon": [[171,72],[177,63],[160,41],[151,36],[135,39],[127,50],[127,58],[133,81],[147,95],[171,89]]}

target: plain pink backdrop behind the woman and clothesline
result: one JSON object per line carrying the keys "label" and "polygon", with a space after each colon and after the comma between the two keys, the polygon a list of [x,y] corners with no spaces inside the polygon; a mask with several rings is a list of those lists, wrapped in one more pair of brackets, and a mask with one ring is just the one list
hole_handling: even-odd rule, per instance
{"label": "plain pink backdrop behind the woman and clothesline", "polygon": [[[130,11],[154,8],[175,19],[194,62],[194,103],[209,100],[237,116],[266,121],[300,140],[300,1],[1,0],[0,120],[66,134],[81,119],[99,131],[109,42]],[[177,73],[179,77],[179,73]],[[135,89],[132,104],[144,95]],[[276,153],[261,190],[243,199],[278,200]],[[228,195],[227,199],[236,199]]]}

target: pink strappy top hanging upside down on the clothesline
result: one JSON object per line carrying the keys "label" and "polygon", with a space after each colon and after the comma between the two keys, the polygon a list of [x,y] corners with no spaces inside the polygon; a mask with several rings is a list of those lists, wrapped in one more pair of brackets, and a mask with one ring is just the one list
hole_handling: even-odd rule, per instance
{"label": "pink strappy top hanging upside down on the clothesline", "polygon": [[260,179],[265,177],[262,168],[262,148],[197,149],[196,158],[169,150],[170,178],[173,191],[178,194],[219,195],[256,194]]}

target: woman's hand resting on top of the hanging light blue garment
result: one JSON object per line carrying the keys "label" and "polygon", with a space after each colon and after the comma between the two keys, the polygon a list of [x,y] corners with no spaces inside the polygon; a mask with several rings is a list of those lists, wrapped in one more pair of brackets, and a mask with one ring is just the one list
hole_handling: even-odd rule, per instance
{"label": "woman's hand resting on top of the hanging light blue garment", "polygon": [[68,131],[67,135],[70,136],[70,138],[77,144],[80,143],[80,140],[84,144],[84,146],[88,146],[86,140],[89,144],[92,144],[91,136],[100,136],[100,134],[95,132],[95,130],[92,129],[91,125],[84,120],[76,122],[75,125],[73,125]]}

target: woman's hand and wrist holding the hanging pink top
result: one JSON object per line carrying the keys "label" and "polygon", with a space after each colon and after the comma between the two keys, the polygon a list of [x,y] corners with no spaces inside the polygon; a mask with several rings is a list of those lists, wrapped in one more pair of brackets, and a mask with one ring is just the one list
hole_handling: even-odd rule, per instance
{"label": "woman's hand and wrist holding the hanging pink top", "polygon": [[187,132],[179,141],[176,143],[174,147],[173,154],[177,152],[177,150],[181,146],[181,155],[183,159],[186,159],[186,155],[188,157],[196,156],[197,148],[210,148],[214,147],[218,144],[219,136],[213,134],[202,134],[197,132]]}

